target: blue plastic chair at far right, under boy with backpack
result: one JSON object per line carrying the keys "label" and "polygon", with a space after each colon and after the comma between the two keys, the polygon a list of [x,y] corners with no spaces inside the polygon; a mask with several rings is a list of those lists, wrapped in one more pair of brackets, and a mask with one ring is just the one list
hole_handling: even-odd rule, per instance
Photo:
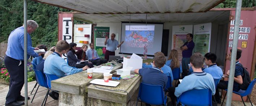
{"label": "blue plastic chair at far right, under boy with backpack", "polygon": [[[254,86],[255,83],[256,83],[256,78],[252,80],[252,82],[250,83],[250,85],[247,87],[246,90],[241,90],[240,89],[238,92],[233,91],[233,93],[235,93],[237,95],[240,95],[240,97],[242,98],[243,103],[244,103],[243,97],[247,96],[249,98],[249,100],[250,100],[251,105],[252,105],[251,98],[248,95],[250,95],[252,93],[252,89],[253,89],[253,86]],[[227,89],[225,89],[225,90],[227,91]],[[225,99],[226,95],[227,95],[227,92],[226,92],[226,94],[224,96],[224,99]],[[221,106],[223,105],[224,99],[223,99],[223,101],[221,103]],[[245,103],[244,103],[244,106],[246,106]]]}

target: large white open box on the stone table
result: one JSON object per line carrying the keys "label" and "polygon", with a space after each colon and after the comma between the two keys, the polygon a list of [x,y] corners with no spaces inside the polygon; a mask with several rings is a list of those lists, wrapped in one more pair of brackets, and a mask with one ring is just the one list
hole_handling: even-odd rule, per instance
{"label": "large white open box on the stone table", "polygon": [[127,68],[128,66],[130,66],[133,67],[133,69],[131,69],[132,71],[134,71],[135,69],[141,69],[142,60],[143,59],[128,59],[126,57],[123,57],[123,68]]}

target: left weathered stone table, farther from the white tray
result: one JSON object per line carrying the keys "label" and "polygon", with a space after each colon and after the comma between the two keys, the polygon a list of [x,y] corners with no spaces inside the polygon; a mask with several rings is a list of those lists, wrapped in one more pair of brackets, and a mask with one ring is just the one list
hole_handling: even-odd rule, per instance
{"label": "left weathered stone table, farther from the white tray", "polygon": [[[111,62],[110,62],[111,63]],[[99,68],[101,65],[96,66]],[[122,65],[116,65],[110,73],[116,69],[122,68]],[[59,91],[60,106],[87,106],[87,87],[90,81],[94,79],[103,79],[103,73],[93,73],[92,79],[87,78],[87,70],[68,75],[51,81],[53,90]]]}

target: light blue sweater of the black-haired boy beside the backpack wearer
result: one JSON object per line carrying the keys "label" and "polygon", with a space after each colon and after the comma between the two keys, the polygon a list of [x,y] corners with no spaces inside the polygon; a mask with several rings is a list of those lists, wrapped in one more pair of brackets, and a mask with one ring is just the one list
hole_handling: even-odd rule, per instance
{"label": "light blue sweater of the black-haired boy beside the backpack wearer", "polygon": [[213,79],[221,79],[223,76],[222,69],[216,64],[210,65],[209,68],[205,68],[204,72],[211,74]]}

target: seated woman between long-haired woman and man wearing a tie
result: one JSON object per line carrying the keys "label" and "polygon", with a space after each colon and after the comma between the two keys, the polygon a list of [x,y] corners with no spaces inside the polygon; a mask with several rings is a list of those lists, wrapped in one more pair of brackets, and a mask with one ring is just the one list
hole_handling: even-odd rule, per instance
{"label": "seated woman between long-haired woman and man wearing a tie", "polygon": [[[79,60],[88,60],[88,57],[86,56],[86,50],[87,50],[87,45],[83,45],[80,50],[76,51],[75,54],[77,54],[77,59]],[[93,67],[93,64],[91,61],[88,61],[89,64],[87,64],[90,68]]]}

